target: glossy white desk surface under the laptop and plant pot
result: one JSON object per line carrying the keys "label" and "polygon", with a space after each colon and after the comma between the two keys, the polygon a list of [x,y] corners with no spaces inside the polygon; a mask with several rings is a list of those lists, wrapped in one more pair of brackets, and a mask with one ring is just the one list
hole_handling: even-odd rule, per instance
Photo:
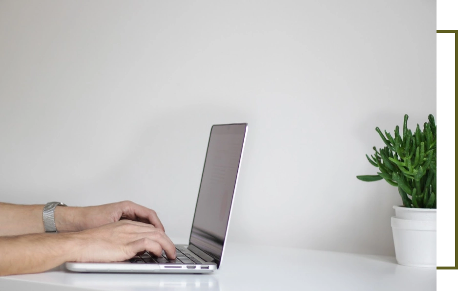
{"label": "glossy white desk surface under the laptop and plant pot", "polygon": [[72,273],[61,266],[0,277],[0,290],[434,291],[437,270],[399,266],[394,257],[228,244],[213,274]]}

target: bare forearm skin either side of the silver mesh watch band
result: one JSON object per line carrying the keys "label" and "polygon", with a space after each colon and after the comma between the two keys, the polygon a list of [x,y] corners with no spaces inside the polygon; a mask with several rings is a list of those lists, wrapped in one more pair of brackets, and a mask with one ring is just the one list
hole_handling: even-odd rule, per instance
{"label": "bare forearm skin either side of the silver mesh watch band", "polygon": [[[44,233],[44,205],[17,205],[0,203],[0,236]],[[59,232],[75,231],[75,207],[57,206],[54,214]]]}

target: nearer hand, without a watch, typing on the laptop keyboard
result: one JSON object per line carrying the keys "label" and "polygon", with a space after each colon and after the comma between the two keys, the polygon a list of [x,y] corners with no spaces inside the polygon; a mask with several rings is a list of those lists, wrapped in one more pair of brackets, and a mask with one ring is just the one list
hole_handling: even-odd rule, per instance
{"label": "nearer hand, without a watch, typing on the laptop keyboard", "polygon": [[151,224],[120,220],[69,235],[76,242],[74,262],[122,262],[145,251],[161,256],[162,250],[176,258],[175,245],[164,230]]}

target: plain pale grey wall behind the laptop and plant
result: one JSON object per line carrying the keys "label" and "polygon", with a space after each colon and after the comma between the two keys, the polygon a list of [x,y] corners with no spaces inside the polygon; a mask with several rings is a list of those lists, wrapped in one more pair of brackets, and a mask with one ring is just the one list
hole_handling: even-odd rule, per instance
{"label": "plain pale grey wall behind the laptop and plant", "polygon": [[250,125],[229,240],[394,255],[365,154],[437,117],[437,1],[0,0],[0,200],[155,209],[186,241],[212,124]]}

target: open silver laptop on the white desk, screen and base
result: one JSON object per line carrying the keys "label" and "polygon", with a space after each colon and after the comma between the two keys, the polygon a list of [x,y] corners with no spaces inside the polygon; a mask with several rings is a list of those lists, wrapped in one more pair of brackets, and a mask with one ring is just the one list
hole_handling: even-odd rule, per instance
{"label": "open silver laptop on the white desk, screen and base", "polygon": [[189,243],[175,245],[177,258],[145,252],[124,262],[68,262],[75,272],[209,273],[219,269],[242,162],[247,123],[213,125],[197,196]]}

